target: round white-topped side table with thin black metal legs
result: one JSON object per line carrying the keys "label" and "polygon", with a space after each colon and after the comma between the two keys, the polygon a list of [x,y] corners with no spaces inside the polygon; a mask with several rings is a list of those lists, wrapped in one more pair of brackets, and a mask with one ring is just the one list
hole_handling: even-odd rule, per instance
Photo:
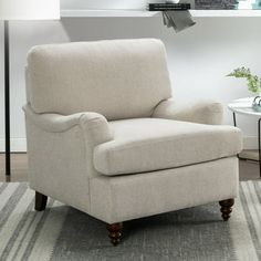
{"label": "round white-topped side table with thin black metal legs", "polygon": [[[233,125],[236,127],[237,127],[237,118],[236,118],[237,114],[255,116],[258,118],[259,160],[254,160],[254,159],[251,159],[251,160],[259,161],[259,175],[261,177],[261,143],[260,143],[261,113],[255,112],[252,108],[253,100],[254,100],[254,97],[246,97],[246,98],[234,100],[228,105],[228,108],[230,111],[232,111],[232,113],[233,113]],[[242,157],[239,157],[239,158],[248,159],[248,158],[242,158]]]}

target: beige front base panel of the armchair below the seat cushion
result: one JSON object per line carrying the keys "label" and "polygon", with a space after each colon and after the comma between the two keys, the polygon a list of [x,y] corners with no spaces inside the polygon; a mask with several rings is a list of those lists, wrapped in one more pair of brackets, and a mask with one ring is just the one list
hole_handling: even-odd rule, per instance
{"label": "beige front base panel of the armchair below the seat cushion", "polygon": [[91,212],[121,222],[238,196],[238,158],[91,179]]}

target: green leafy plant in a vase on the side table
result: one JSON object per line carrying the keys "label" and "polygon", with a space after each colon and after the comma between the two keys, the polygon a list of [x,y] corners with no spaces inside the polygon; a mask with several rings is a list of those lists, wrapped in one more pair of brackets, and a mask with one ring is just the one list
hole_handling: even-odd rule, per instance
{"label": "green leafy plant in a vase on the side table", "polygon": [[249,67],[238,67],[227,76],[246,79],[249,92],[255,95],[252,107],[254,111],[261,112],[261,79],[251,73]]}

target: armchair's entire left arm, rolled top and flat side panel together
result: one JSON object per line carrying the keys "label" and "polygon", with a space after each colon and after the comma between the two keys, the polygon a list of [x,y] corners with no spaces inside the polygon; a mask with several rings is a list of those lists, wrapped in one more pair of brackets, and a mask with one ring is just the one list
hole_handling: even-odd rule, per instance
{"label": "armchair's entire left arm, rolled top and flat side panel together", "polygon": [[[70,116],[35,114],[23,107],[29,155],[30,187],[87,211],[93,148],[113,138],[104,116],[81,113]],[[84,208],[83,208],[84,207]]]}

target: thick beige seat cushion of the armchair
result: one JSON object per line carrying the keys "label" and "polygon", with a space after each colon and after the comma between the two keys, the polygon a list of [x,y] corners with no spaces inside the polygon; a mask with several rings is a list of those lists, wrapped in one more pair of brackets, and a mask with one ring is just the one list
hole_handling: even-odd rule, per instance
{"label": "thick beige seat cushion of the armchair", "polygon": [[104,175],[176,168],[237,155],[242,149],[238,128],[161,118],[109,123],[114,140],[94,149],[94,167]]}

